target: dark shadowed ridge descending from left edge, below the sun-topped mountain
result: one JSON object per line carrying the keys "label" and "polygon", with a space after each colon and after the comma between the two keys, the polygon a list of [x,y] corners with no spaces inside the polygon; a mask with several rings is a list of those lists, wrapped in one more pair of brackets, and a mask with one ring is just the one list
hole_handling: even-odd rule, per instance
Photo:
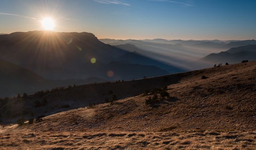
{"label": "dark shadowed ridge descending from left edge, below the sun-topped mountain", "polygon": [[51,84],[50,80],[4,60],[0,60],[0,81],[0,97],[32,93]]}

